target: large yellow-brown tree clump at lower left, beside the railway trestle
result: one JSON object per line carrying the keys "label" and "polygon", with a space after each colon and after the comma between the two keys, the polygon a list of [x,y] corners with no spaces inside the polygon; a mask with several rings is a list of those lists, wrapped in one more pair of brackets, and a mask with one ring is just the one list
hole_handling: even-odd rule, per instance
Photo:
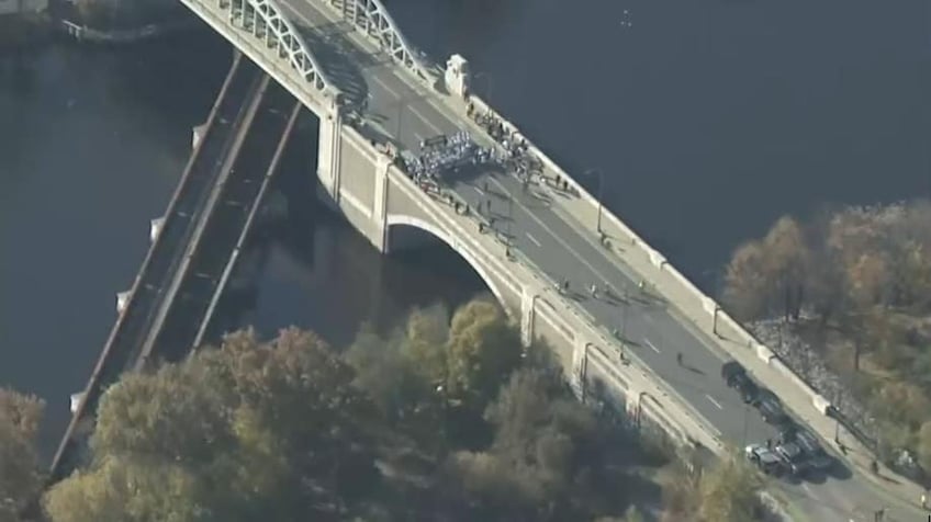
{"label": "large yellow-brown tree clump at lower left, beside the railway trestle", "polygon": [[101,399],[89,469],[45,498],[54,522],[305,520],[370,481],[368,402],[316,336],[227,337]]}

